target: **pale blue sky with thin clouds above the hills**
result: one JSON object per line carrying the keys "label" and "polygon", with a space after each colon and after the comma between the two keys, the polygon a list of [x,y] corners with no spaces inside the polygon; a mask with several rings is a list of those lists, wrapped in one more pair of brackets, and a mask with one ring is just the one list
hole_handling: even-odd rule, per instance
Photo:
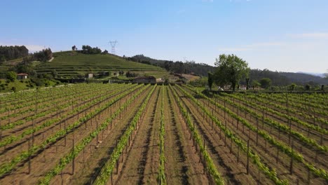
{"label": "pale blue sky with thin clouds above the hills", "polygon": [[328,69],[327,0],[1,0],[0,45],[98,46],[116,54],[214,65],[235,54],[252,69]]}

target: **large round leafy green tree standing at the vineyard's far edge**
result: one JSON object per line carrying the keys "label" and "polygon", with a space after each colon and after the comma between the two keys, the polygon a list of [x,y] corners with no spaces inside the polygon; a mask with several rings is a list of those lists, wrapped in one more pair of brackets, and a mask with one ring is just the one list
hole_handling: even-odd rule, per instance
{"label": "large round leafy green tree standing at the vineyard's far edge", "polygon": [[214,64],[217,66],[214,74],[215,82],[222,86],[230,84],[233,91],[240,79],[247,78],[250,72],[247,62],[236,55],[220,55]]}

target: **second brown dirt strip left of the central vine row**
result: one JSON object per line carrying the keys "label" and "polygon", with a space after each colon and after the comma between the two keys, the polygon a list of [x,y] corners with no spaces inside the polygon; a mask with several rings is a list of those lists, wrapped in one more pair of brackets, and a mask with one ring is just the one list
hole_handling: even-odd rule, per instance
{"label": "second brown dirt strip left of the central vine row", "polygon": [[[69,173],[71,172],[70,163],[64,168],[64,174],[58,174],[50,184],[59,184],[60,182],[64,184],[91,184],[95,180],[93,177],[97,177],[100,169],[103,167],[104,163],[107,162],[111,151],[115,147],[116,141],[125,131],[128,123],[137,112],[139,105],[142,104],[142,100],[144,100],[148,92],[149,88],[148,90],[144,90],[142,95],[130,104],[128,109],[121,114],[121,118],[117,116],[114,119],[112,122],[112,129],[110,130],[109,125],[108,132],[104,131],[104,139],[102,139],[102,134],[100,134],[99,140],[102,141],[102,143],[97,144],[97,139],[95,138],[86,146],[84,153],[83,151],[79,153],[75,160],[76,170],[74,175]],[[131,96],[132,95],[129,95],[129,97]],[[123,102],[121,103],[123,104]],[[113,109],[113,112],[114,110],[116,109]],[[98,146],[98,148],[96,149],[95,146]]]}

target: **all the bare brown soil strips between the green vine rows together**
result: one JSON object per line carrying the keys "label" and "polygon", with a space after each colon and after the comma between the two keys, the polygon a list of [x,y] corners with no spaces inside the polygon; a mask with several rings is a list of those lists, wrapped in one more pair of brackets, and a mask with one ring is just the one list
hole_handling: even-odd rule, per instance
{"label": "all the bare brown soil strips between the green vine rows together", "polygon": [[[128,85],[118,85],[115,86],[120,89],[120,92],[126,91],[132,88]],[[142,86],[143,87],[143,86]],[[108,95],[108,92],[102,88],[95,88],[98,95]],[[139,87],[141,88],[141,86]],[[139,88],[137,90],[139,90]],[[128,127],[128,124],[132,118],[137,113],[140,105],[144,101],[146,95],[153,86],[144,90],[139,97],[137,97],[128,107],[125,109],[120,116],[117,116],[109,125],[108,129],[100,132],[97,139],[93,139],[86,148],[78,153],[75,158],[75,169],[72,172],[72,164],[69,163],[62,170],[62,174],[57,174],[50,184],[92,184],[93,180],[99,175],[100,170],[104,167],[104,164],[109,159],[111,152],[116,146],[116,141],[123,135],[123,132]],[[90,89],[87,91],[92,92]],[[112,90],[112,89],[111,89]],[[31,158],[32,171],[28,173],[29,163],[28,160],[19,163],[13,172],[6,174],[0,178],[0,184],[37,184],[37,182],[44,177],[46,172],[53,169],[55,165],[60,162],[60,158],[66,156],[69,153],[74,144],[78,144],[83,138],[87,137],[90,132],[93,132],[99,125],[104,122],[111,112],[119,109],[120,104],[123,104],[128,98],[130,98],[134,93],[123,97],[121,100],[111,105],[99,115],[91,118],[78,126],[74,132],[67,134],[67,137],[62,137],[53,144],[49,144],[43,151],[39,151]],[[191,93],[190,90],[184,88],[187,92]],[[81,90],[79,95],[84,95],[85,91]],[[162,92],[164,93],[164,101],[162,102]],[[194,126],[203,140],[207,152],[210,154],[215,167],[224,178],[225,184],[273,184],[273,181],[269,179],[263,172],[260,172],[259,168],[252,163],[250,160],[250,173],[247,174],[246,161],[247,155],[238,149],[238,146],[231,139],[224,137],[224,133],[221,132],[219,127],[212,123],[212,120],[204,114],[204,112],[195,104],[191,99],[186,97],[179,88],[172,87],[160,87],[157,86],[156,90],[153,91],[151,98],[142,114],[142,119],[139,121],[137,128],[131,135],[131,142],[125,147],[123,154],[118,160],[118,169],[115,169],[112,174],[112,180],[114,184],[158,184],[158,172],[159,172],[159,157],[160,157],[160,107],[164,104],[164,125],[165,125],[165,177],[168,184],[213,184],[212,177],[209,174],[203,173],[203,162],[199,157],[199,150],[197,146],[193,143],[192,136],[189,133],[186,122],[182,117],[177,100],[173,96],[173,92],[179,95],[179,100],[182,101],[184,107],[189,112],[192,118]],[[195,95],[194,93],[191,93]],[[76,100],[74,107],[86,104],[91,101],[93,97],[80,98],[78,95],[71,94],[71,100]],[[108,96],[107,100],[100,102],[100,104],[93,104],[80,114],[76,114],[66,121],[67,125],[74,123],[78,118],[95,111],[97,107],[107,104],[110,100],[116,97]],[[46,100],[48,100],[46,96]],[[53,101],[58,101],[59,104],[64,104],[65,97],[56,97]],[[298,163],[294,160],[292,174],[289,174],[289,164],[291,162],[290,157],[286,154],[279,152],[277,156],[277,147],[273,144],[266,142],[266,140],[258,135],[257,132],[249,130],[246,126],[239,123],[232,116],[224,113],[214,104],[211,104],[203,98],[198,98],[198,101],[202,106],[208,109],[214,116],[216,116],[222,124],[226,124],[226,128],[231,130],[235,137],[240,138],[243,142],[247,143],[250,140],[250,148],[254,153],[260,156],[263,163],[265,163],[269,168],[276,170],[278,177],[281,179],[287,179],[289,184],[308,184],[308,170],[302,163]],[[62,100],[62,101],[60,101]],[[224,101],[221,98],[213,99],[219,104],[224,105]],[[231,98],[232,101],[246,106],[245,102],[240,102],[238,99]],[[33,101],[33,100],[31,100]],[[70,100],[67,100],[70,101]],[[67,102],[66,101],[66,102]],[[292,100],[291,100],[292,101]],[[263,103],[259,103],[265,105]],[[245,119],[247,122],[257,127],[259,123],[259,130],[268,132],[272,137],[277,139],[279,142],[284,144],[289,144],[289,137],[285,132],[279,132],[278,129],[271,128],[267,124],[262,124],[261,120],[257,122],[257,119],[250,114],[240,111],[237,107],[226,103],[226,108],[233,111],[240,118]],[[262,114],[262,111],[258,107],[250,107],[253,111],[257,111],[258,114]],[[274,107],[269,107],[274,108]],[[26,108],[23,108],[26,109]],[[23,109],[18,109],[20,111]],[[53,109],[53,104],[50,107],[44,107],[41,110]],[[71,107],[62,109],[62,114],[67,114],[67,111],[71,110]],[[275,111],[279,111],[276,110]],[[10,111],[9,113],[14,112]],[[284,111],[281,111],[285,113]],[[5,112],[1,115],[7,115]],[[56,115],[57,112],[53,114],[48,114],[42,118],[36,119],[38,124],[42,124],[44,121],[48,121]],[[30,113],[21,114],[15,118],[11,118],[11,121],[19,120],[25,116],[30,115]],[[271,118],[274,121],[284,122],[285,118],[280,118],[277,115],[269,114],[265,112],[267,118]],[[296,116],[296,115],[293,115]],[[300,116],[296,116],[301,118]],[[5,120],[8,121],[8,120]],[[2,122],[5,123],[5,122]],[[6,130],[3,132],[5,135],[15,134],[18,135],[22,133],[28,126],[31,126],[32,122],[26,125],[20,125],[11,130]],[[64,123],[53,123],[50,127],[43,128],[35,133],[34,144],[39,145],[41,142],[45,141],[55,132],[64,128]],[[292,129],[298,132],[303,132],[304,127],[292,123]],[[311,131],[311,138],[315,139],[317,142],[320,141],[320,137],[315,136],[317,132]],[[306,132],[303,132],[303,135]],[[25,136],[18,142],[13,142],[6,146],[6,148],[0,149],[0,165],[8,162],[9,160],[18,156],[22,151],[26,151],[29,146],[30,136]],[[66,144],[65,144],[66,140]],[[306,161],[313,163],[315,167],[322,167],[322,169],[327,171],[327,153],[317,153],[313,146],[308,146],[301,142],[300,140],[293,138],[294,141],[294,151],[297,151],[303,155]],[[327,144],[327,136],[324,135],[323,144]],[[96,148],[97,146],[97,148]],[[316,156],[316,157],[315,157]],[[111,184],[111,179],[107,181],[107,184]],[[327,184],[322,178],[313,177],[310,174],[310,184]]]}

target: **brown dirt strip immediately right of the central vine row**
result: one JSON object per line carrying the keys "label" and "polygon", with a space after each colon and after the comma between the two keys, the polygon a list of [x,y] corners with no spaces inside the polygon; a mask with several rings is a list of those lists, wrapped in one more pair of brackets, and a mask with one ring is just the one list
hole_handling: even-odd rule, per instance
{"label": "brown dirt strip immediately right of the central vine row", "polygon": [[[203,174],[195,147],[189,139],[186,123],[171,91],[165,88],[165,176],[168,184],[209,184]],[[167,98],[168,97],[168,98]]]}

